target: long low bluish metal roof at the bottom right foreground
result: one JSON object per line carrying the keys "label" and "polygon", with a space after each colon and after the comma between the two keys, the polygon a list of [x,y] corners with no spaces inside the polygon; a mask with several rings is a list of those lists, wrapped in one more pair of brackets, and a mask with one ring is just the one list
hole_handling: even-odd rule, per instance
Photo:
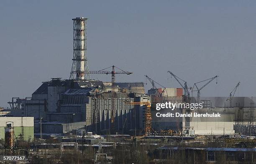
{"label": "long low bluish metal roof at the bottom right foreground", "polygon": [[[157,149],[178,150],[181,147],[161,146]],[[183,149],[206,150],[206,151],[256,151],[256,148],[233,148],[233,147],[183,147]]]}

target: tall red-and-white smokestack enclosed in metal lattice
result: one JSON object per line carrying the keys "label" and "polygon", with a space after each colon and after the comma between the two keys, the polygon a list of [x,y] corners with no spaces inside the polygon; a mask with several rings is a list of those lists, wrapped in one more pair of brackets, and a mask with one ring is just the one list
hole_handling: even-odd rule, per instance
{"label": "tall red-and-white smokestack enclosed in metal lattice", "polygon": [[73,20],[73,64],[69,79],[90,79],[87,63],[87,19],[77,17]]}

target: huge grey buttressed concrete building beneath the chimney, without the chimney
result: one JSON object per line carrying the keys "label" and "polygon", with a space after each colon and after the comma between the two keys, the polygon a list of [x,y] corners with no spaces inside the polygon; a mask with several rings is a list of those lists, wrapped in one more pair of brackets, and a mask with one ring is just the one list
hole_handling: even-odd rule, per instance
{"label": "huge grey buttressed concrete building beneath the chimney, without the chimney", "polygon": [[[120,83],[122,88],[114,86],[114,93],[111,92],[112,86],[108,85],[110,83],[105,84],[95,80],[53,78],[43,82],[31,98],[17,99],[15,103],[20,103],[20,110],[11,111],[23,111],[20,115],[33,116],[36,133],[40,132],[40,118],[43,133],[64,133],[81,128],[107,133],[114,105],[115,131],[134,131],[135,119],[142,119],[132,115],[134,106],[126,101],[133,101],[135,97],[143,95],[143,83]],[[125,90],[125,87],[128,89]],[[134,87],[142,93],[130,91],[134,91]],[[148,99],[148,96],[145,97]],[[137,128],[143,129],[143,124]]]}

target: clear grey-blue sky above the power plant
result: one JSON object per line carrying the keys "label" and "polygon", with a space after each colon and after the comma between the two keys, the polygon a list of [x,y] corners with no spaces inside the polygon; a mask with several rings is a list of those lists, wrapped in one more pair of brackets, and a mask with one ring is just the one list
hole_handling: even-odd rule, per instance
{"label": "clear grey-blue sky above the power plant", "polygon": [[167,71],[188,86],[218,75],[201,96],[229,96],[238,81],[236,96],[256,96],[256,1],[8,0],[0,3],[0,106],[31,97],[42,81],[69,78],[75,17],[89,18],[91,71],[118,66],[133,74],[117,82],[146,90],[146,74],[166,88],[180,87]]}

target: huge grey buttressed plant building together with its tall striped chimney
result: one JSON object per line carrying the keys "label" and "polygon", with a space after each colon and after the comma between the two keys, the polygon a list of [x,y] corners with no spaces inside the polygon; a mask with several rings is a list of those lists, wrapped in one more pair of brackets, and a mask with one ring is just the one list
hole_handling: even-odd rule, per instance
{"label": "huge grey buttressed plant building together with its tall striped chimney", "polygon": [[[73,63],[70,78],[52,78],[51,81],[42,82],[31,97],[12,98],[9,102],[11,112],[3,114],[34,117],[37,133],[41,126],[42,133],[65,133],[74,129],[99,133],[109,133],[112,129],[112,132],[120,133],[143,129],[140,119],[143,117],[143,105],[137,105],[136,112],[133,110],[134,105],[128,102],[134,99],[148,101],[148,96],[144,95],[144,84],[115,83],[115,74],[131,74],[116,66],[110,67],[112,71],[89,71],[87,18],[77,17],[72,20]],[[90,77],[92,73],[109,74],[112,81],[103,83],[93,80]]]}

